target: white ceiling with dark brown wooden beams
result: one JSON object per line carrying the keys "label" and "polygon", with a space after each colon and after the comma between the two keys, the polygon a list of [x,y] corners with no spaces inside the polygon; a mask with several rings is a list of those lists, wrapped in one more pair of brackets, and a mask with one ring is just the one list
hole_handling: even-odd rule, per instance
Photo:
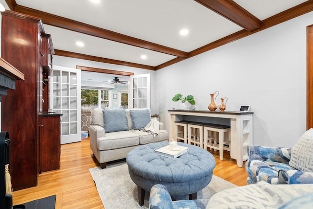
{"label": "white ceiling with dark brown wooden beams", "polygon": [[[0,2],[42,19],[55,55],[147,70],[165,68],[313,11],[313,0]],[[181,29],[188,29],[188,35],[179,35]],[[76,41],[85,46],[76,46]]]}

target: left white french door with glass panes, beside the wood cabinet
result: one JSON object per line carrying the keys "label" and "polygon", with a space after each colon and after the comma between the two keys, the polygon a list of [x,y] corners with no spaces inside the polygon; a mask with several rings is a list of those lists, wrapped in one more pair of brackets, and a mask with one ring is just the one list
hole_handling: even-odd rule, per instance
{"label": "left white french door with glass panes, beside the wood cabinet", "polygon": [[81,70],[53,66],[53,111],[63,114],[61,144],[81,141]]}

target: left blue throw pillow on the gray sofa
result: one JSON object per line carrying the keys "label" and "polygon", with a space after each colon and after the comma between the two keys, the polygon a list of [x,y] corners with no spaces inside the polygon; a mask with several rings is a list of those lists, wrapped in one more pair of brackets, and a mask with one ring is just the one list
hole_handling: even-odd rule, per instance
{"label": "left blue throw pillow on the gray sofa", "polygon": [[105,133],[115,131],[127,131],[128,124],[125,110],[102,110]]}

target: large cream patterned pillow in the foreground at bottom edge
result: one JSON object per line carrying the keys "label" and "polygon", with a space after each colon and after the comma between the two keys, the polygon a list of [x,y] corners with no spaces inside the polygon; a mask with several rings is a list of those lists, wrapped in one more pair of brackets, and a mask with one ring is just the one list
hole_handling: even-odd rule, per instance
{"label": "large cream patterned pillow in the foreground at bottom edge", "polygon": [[238,186],[220,191],[210,198],[206,208],[277,209],[309,192],[312,195],[312,189],[313,185],[311,184],[270,185],[266,182],[258,182],[254,185]]}

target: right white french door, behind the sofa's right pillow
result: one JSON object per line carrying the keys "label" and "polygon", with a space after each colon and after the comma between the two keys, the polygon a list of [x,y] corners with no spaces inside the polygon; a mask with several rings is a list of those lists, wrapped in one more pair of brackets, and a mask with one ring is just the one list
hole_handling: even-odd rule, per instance
{"label": "right white french door, behind the sofa's right pillow", "polygon": [[150,109],[150,74],[131,75],[128,107]]}

